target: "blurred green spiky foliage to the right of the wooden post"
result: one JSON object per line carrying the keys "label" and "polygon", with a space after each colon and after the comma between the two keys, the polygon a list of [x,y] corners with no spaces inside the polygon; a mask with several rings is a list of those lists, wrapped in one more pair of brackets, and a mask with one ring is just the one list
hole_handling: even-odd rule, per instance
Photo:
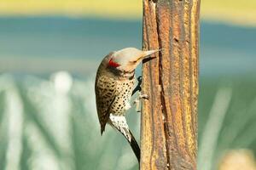
{"label": "blurred green spiky foliage to the right of the wooden post", "polygon": [[[199,110],[198,167],[207,170],[218,169],[229,150],[256,151],[256,133],[253,133],[256,130],[253,123],[256,121],[255,82],[212,82],[201,83]],[[212,94],[212,91],[216,93]],[[232,166],[239,167],[239,163],[237,161],[237,166]]]}

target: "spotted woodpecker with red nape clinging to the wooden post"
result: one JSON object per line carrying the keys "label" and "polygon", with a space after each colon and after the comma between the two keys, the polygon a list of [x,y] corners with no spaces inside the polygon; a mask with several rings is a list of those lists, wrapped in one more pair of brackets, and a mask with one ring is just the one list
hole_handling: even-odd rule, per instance
{"label": "spotted woodpecker with red nape clinging to the wooden post", "polygon": [[160,50],[142,51],[137,48],[113,51],[102,59],[96,73],[96,108],[101,133],[104,132],[106,123],[116,128],[131,144],[138,161],[140,148],[128,127],[125,112],[131,108],[130,100],[136,82],[137,65],[158,51]]}

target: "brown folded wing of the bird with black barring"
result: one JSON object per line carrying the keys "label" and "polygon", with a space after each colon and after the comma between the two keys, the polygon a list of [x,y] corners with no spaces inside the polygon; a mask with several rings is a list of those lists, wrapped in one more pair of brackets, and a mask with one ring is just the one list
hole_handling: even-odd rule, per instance
{"label": "brown folded wing of the bird with black barring", "polygon": [[111,105],[117,95],[116,86],[117,82],[113,78],[102,76],[96,80],[96,107],[101,123],[101,133],[105,130]]}

